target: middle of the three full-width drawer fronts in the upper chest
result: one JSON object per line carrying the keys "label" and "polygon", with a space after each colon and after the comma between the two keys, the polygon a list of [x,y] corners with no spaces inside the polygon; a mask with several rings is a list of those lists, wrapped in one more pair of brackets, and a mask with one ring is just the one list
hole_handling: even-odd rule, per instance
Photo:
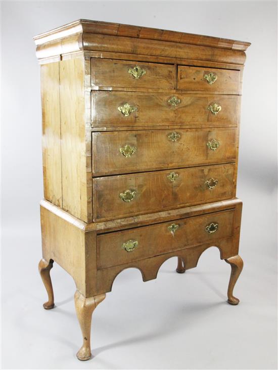
{"label": "middle of the three full-width drawer fronts in the upper chest", "polygon": [[92,133],[93,176],[235,162],[236,128]]}

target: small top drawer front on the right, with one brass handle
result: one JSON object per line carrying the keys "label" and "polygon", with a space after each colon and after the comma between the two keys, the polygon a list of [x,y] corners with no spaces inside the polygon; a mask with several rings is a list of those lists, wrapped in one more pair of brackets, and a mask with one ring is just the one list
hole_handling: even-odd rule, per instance
{"label": "small top drawer front on the right, with one brass handle", "polygon": [[225,91],[239,94],[240,71],[178,66],[177,88],[199,91]]}

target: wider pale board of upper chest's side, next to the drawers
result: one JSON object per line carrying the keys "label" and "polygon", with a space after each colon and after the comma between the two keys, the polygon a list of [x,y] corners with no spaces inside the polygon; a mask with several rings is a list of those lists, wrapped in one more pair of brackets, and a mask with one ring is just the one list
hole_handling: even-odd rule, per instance
{"label": "wider pale board of upper chest's side, next to the drawers", "polygon": [[[60,62],[63,209],[89,222],[85,144],[84,59]],[[90,155],[90,153],[88,153]]]}

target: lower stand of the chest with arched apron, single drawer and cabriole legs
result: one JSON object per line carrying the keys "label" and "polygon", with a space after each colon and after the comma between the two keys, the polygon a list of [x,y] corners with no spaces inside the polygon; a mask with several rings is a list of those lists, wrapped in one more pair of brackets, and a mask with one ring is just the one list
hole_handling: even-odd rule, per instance
{"label": "lower stand of the chest with arched apron, single drawer and cabriole legs", "polygon": [[[208,207],[207,213],[204,213],[205,207]],[[179,223],[180,233],[173,236],[169,233],[169,226],[172,226],[172,221],[168,222],[169,212],[165,214],[165,219],[159,219],[158,224],[142,225],[141,221],[135,222],[132,218],[132,222],[125,221],[126,223],[119,227],[107,222],[103,225],[85,224],[44,201],[41,206],[43,259],[38,265],[48,293],[48,301],[43,307],[54,307],[50,270],[55,260],[72,276],[76,284],[75,308],[83,337],[77,358],[85,361],[91,357],[92,312],[105,299],[106,293],[111,291],[116,276],[126,268],[137,268],[145,282],[156,279],[161,265],[169,258],[177,257],[176,271],[184,273],[197,266],[205,250],[212,246],[217,247],[220,258],[231,266],[228,303],[237,305],[239,299],[234,297],[233,291],[243,268],[243,261],[238,255],[241,208],[242,203],[235,199],[223,201],[221,204],[184,208],[182,217],[179,209],[176,211],[178,214],[172,215],[172,218]],[[183,227],[186,225],[187,227]],[[138,254],[134,254],[136,251],[126,253],[122,243],[129,240],[136,242],[138,233],[141,233],[141,242],[136,245]],[[160,233],[164,239],[157,249]],[[103,234],[105,239],[101,239],[104,238]],[[118,242],[114,242],[114,239]],[[150,245],[151,248],[145,248],[144,241],[145,245]],[[103,244],[100,246],[101,242]],[[106,249],[106,245],[109,248]],[[123,254],[119,254],[120,252]]]}

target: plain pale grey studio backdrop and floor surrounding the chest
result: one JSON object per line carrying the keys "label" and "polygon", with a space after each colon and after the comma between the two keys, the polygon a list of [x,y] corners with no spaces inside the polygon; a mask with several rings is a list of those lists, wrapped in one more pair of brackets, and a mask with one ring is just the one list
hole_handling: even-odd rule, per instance
{"label": "plain pale grey studio backdrop and floor surrounding the chest", "polygon": [[[244,271],[226,300],[229,266],[216,248],[180,275],[176,259],[142,283],[125,270],[94,313],[92,353],[79,362],[81,333],[70,276],[52,269],[46,293],[39,201],[43,197],[39,67],[32,36],[85,18],[252,42],[243,80],[238,197],[244,202]],[[276,368],[277,3],[2,2],[2,361],[3,368]]]}

